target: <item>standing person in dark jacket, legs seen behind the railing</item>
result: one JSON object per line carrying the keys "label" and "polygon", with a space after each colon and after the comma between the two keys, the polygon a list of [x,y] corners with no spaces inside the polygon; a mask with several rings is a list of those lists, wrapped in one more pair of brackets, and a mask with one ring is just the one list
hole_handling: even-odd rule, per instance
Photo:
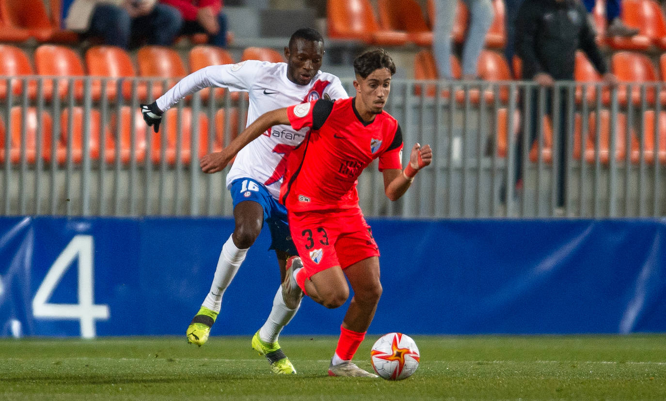
{"label": "standing person in dark jacket, legs seen behind the railing", "polygon": [[[516,51],[522,61],[522,79],[533,80],[538,86],[529,90],[529,142],[537,138],[539,105],[545,106],[545,112],[553,120],[553,84],[556,80],[573,80],[575,52],[581,49],[594,67],[603,76],[607,84],[617,84],[617,78],[607,70],[599,47],[595,43],[595,31],[587,19],[587,10],[578,0],[524,0],[515,21]],[[544,86],[545,96],[539,98],[539,86]],[[571,88],[573,90],[573,88]],[[593,90],[590,88],[589,90]],[[557,143],[553,151],[557,160],[553,160],[558,170],[557,207],[565,201],[565,149],[567,141],[567,88],[557,91],[559,98],[559,132],[554,133]],[[527,94],[527,91],[523,92]],[[521,98],[525,110],[525,96]],[[541,104],[540,104],[541,103]],[[545,103],[545,104],[544,104]],[[570,134],[570,133],[569,133]],[[522,135],[517,140],[516,188],[522,186]],[[557,149],[554,149],[557,146]]]}

